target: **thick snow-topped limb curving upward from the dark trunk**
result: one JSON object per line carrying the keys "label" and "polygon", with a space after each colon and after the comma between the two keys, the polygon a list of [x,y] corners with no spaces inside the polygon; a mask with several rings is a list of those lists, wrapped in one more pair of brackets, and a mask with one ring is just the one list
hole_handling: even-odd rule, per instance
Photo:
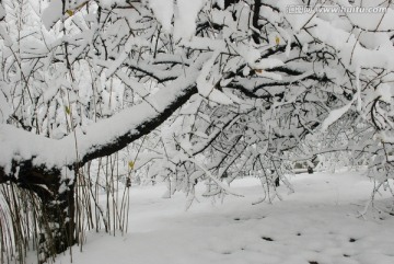
{"label": "thick snow-topped limb curving upward from the dark trunk", "polygon": [[[9,164],[14,164],[15,168],[28,161],[33,164],[32,168],[40,168],[43,171],[74,168],[95,158],[112,154],[149,134],[197,92],[196,78],[205,61],[204,57],[186,70],[184,76],[148,96],[142,103],[97,122],[84,130],[76,128],[74,134],[60,140],[1,125],[0,182],[11,180],[13,173]],[[37,183],[40,184],[39,177]]]}

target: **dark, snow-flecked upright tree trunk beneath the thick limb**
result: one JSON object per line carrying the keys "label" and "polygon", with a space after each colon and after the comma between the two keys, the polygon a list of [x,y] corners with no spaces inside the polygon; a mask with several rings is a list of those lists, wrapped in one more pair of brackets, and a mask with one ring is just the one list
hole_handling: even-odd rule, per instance
{"label": "dark, snow-flecked upright tree trunk beneath the thick limb", "polygon": [[76,243],[74,183],[59,170],[40,170],[30,163],[21,167],[19,175],[19,186],[34,192],[42,202],[38,251],[44,263]]}

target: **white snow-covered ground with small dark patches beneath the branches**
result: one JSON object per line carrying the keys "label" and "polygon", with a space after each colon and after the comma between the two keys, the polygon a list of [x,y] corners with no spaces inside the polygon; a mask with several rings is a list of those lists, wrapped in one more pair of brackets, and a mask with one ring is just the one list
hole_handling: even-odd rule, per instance
{"label": "white snow-covered ground with small dark patches beneath the branches", "polygon": [[[357,211],[372,183],[357,172],[299,174],[283,200],[252,205],[262,196],[256,179],[232,187],[245,197],[224,204],[199,198],[187,211],[186,198],[161,198],[164,186],[131,188],[129,233],[90,233],[76,264],[393,264],[394,217]],[[393,202],[383,194],[380,206]],[[389,208],[387,208],[389,207]],[[57,264],[70,263],[68,254]]]}

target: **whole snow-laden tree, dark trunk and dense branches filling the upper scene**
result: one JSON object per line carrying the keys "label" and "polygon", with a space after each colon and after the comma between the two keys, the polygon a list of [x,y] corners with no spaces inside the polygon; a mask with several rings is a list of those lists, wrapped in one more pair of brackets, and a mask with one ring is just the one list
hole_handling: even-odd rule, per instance
{"label": "whole snow-laden tree, dark trunk and dense branches filling the upper scene", "polygon": [[247,171],[269,191],[306,135],[345,118],[343,150],[392,177],[392,2],[321,4],[3,1],[0,183],[39,197],[43,260],[76,242],[80,169],[162,124],[148,173],[190,202],[196,181],[232,193],[223,180]]}

